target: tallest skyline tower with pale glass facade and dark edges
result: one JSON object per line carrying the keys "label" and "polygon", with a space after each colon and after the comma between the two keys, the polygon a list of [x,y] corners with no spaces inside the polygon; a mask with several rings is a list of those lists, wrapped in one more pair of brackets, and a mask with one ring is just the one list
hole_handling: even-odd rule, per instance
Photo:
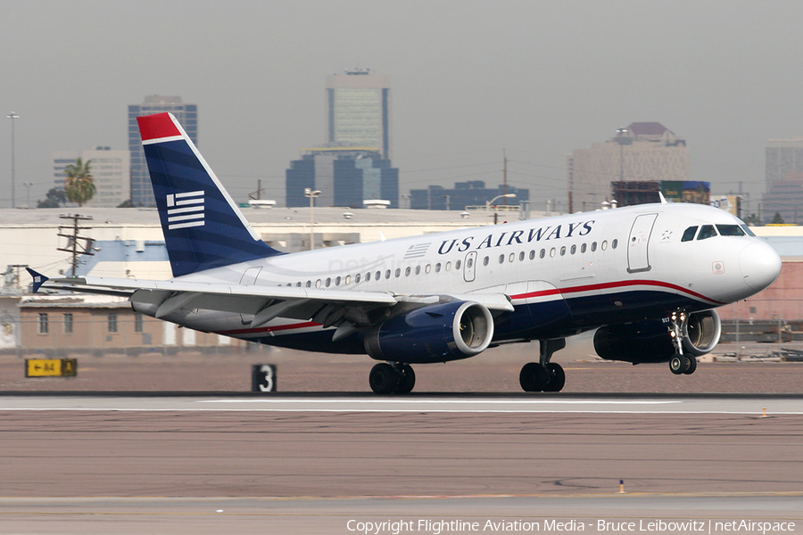
{"label": "tallest skyline tower with pale glass facade and dark edges", "polygon": [[391,159],[390,77],[370,70],[327,76],[327,144],[378,147]]}

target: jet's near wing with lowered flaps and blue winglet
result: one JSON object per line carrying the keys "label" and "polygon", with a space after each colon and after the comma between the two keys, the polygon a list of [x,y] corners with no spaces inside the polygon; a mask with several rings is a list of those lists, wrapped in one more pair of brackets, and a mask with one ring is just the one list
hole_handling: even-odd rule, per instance
{"label": "jet's near wing with lowered flaps and blue winglet", "polygon": [[[324,326],[335,325],[351,317],[352,323],[373,323],[368,316],[372,309],[393,307],[399,302],[421,306],[440,300],[471,300],[488,309],[512,311],[509,298],[502,294],[488,295],[400,295],[390,292],[322,290],[291,286],[262,286],[191,282],[180,279],[166,281],[124,279],[99,276],[69,276],[49,279],[28,268],[34,278],[34,292],[39,288],[70,292],[99,293],[126,297],[137,303],[153,305],[155,317],[169,316],[179,309],[207,309],[252,315],[252,327],[268,323],[274,317],[309,319]],[[351,312],[351,314],[349,314]]]}

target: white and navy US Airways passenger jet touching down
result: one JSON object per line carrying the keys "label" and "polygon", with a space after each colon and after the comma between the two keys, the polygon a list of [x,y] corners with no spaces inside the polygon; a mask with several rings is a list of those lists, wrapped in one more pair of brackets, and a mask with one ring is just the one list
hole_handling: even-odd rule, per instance
{"label": "white and navy US Airways passenger jet touching down", "polygon": [[596,329],[601,358],[691,374],[719,341],[716,307],[772,284],[781,259],[707,206],[646,204],[285,254],[254,233],[169,113],[139,129],[170,256],[167,281],[31,270],[34,290],[128,298],[137,312],[273,346],[368,354],[368,383],[407,393],[411,365],[540,342],[525,391],[560,391],[552,354]]}

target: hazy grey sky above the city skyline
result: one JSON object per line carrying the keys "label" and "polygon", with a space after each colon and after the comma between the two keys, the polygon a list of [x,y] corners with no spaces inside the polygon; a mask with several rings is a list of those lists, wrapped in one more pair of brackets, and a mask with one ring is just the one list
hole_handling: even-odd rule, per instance
{"label": "hazy grey sky above the city skyline", "polygon": [[766,140],[803,136],[803,3],[0,0],[0,206],[53,185],[51,153],[127,148],[127,106],[198,104],[236,200],[325,138],[325,77],[392,77],[402,193],[455,181],[565,198],[565,158],[633,121],[687,140],[691,179],[764,189]]}

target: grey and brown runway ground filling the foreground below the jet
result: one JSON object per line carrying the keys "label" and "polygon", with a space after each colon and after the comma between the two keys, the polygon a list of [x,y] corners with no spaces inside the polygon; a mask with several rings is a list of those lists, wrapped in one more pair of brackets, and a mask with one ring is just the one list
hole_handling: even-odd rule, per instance
{"label": "grey and brown runway ground filling the foreground below the jet", "polygon": [[0,532],[803,531],[801,415],[800,396],[0,396]]}

